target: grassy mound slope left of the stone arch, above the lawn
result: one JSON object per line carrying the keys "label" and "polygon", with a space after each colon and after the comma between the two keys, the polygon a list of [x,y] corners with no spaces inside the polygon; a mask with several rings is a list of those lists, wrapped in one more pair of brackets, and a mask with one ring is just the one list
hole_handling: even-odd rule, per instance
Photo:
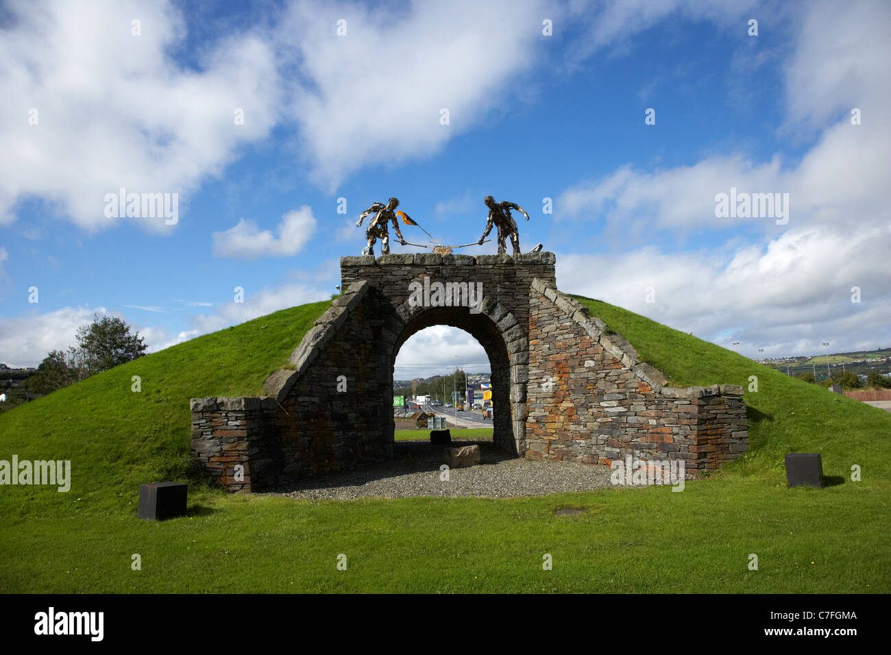
{"label": "grassy mound slope left of the stone arch, above the lawn", "polygon": [[[71,489],[0,487],[4,516],[133,509],[134,486],[186,481],[189,398],[262,396],[331,301],[291,307],[116,366],[0,415],[0,459],[70,460]],[[139,376],[142,391],[132,390]],[[14,491],[13,491],[14,490]],[[12,492],[12,493],[9,493]]]}

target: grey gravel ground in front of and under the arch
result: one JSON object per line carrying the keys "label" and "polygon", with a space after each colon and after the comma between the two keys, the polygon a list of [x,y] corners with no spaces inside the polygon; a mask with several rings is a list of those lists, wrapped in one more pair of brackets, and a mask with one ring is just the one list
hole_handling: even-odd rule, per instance
{"label": "grey gravel ground in front of and under the arch", "polygon": [[605,466],[571,462],[535,461],[509,457],[491,442],[459,441],[453,446],[478,444],[477,466],[452,469],[449,480],[440,480],[443,462],[440,448],[423,442],[398,442],[392,461],[363,471],[347,471],[326,478],[309,479],[279,495],[303,500],[351,500],[360,497],[405,498],[415,495],[510,498],[521,495],[557,494],[610,487]]}

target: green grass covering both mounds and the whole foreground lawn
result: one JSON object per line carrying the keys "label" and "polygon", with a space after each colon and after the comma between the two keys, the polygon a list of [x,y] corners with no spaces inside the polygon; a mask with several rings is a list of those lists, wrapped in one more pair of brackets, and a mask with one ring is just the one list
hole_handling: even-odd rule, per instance
{"label": "green grass covering both mounds and the whole foreground lawn", "polygon": [[[581,300],[677,386],[748,389],[756,376],[758,390],[746,393],[747,456],[688,482],[683,493],[312,502],[204,487],[189,463],[188,399],[262,394],[266,375],[329,306],[316,303],[168,348],[0,415],[0,459],[72,466],[68,493],[0,487],[0,584],[54,593],[891,590],[891,414]],[[130,390],[133,375],[142,377],[141,393]],[[816,451],[834,484],[786,488],[783,456]],[[854,464],[862,481],[851,480]],[[189,482],[189,517],[135,517],[139,483],[160,479]],[[586,512],[553,515],[568,506]],[[130,568],[134,553],[142,570]],[[346,571],[336,569],[339,553]],[[542,569],[544,553],[552,554],[551,571]],[[756,571],[748,570],[750,553]]]}

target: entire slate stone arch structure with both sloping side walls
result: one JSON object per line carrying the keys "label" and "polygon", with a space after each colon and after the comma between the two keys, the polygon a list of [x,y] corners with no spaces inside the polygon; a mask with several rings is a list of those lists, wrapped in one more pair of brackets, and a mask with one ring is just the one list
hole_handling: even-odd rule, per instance
{"label": "entire slate stone arch structure with both sloping side walls", "polygon": [[[740,387],[666,388],[634,348],[556,290],[554,263],[548,252],[341,258],[345,293],[269,376],[266,397],[192,399],[192,454],[233,491],[385,461],[396,354],[439,324],[486,349],[495,443],[512,454],[592,464],[633,454],[707,469],[746,450]],[[418,305],[410,285],[425,281],[479,282],[483,300],[472,311]]]}

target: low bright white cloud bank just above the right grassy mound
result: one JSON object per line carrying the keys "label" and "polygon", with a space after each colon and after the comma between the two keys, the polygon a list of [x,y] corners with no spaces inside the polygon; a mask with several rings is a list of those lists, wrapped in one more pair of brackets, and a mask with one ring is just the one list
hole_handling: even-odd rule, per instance
{"label": "low bright white cloud bank just above the right grassy mound", "polygon": [[[646,247],[609,255],[561,255],[560,289],[646,315],[749,356],[807,355],[887,347],[891,225],[790,230],[762,244],[717,251]],[[594,273],[594,274],[593,274]],[[852,287],[862,302],[851,302]],[[647,302],[648,291],[655,302]]]}

